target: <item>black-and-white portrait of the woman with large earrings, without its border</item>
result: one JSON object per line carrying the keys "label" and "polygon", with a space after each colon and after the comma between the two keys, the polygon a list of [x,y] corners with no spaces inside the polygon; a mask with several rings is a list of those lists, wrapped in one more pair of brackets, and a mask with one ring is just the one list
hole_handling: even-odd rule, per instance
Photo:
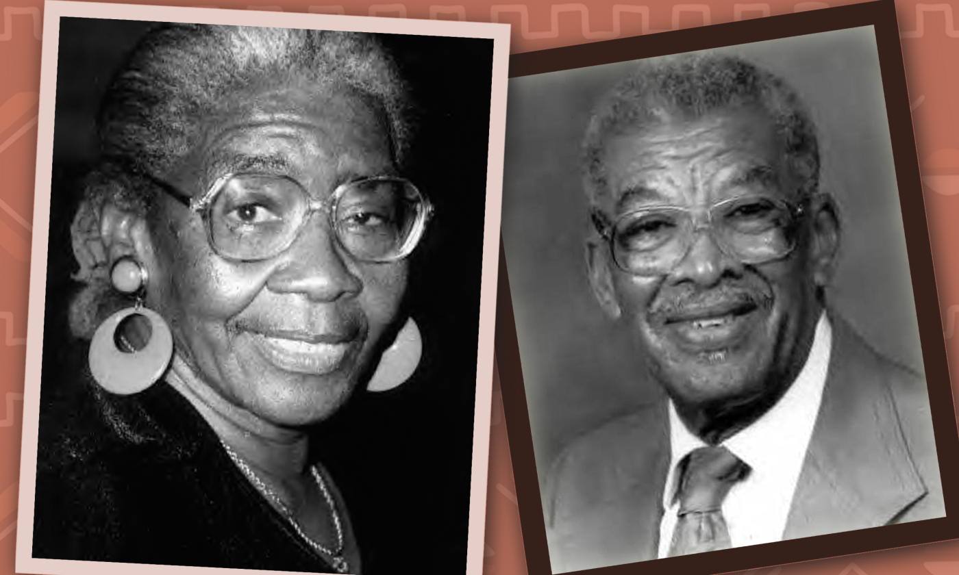
{"label": "black-and-white portrait of the woman with large earrings, without its border", "polygon": [[35,558],[462,571],[492,44],[61,20]]}

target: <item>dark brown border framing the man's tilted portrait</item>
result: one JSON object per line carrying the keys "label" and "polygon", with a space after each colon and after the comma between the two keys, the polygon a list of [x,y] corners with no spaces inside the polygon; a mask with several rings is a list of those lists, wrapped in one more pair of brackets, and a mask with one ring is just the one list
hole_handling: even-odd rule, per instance
{"label": "dark brown border framing the man's tilted portrait", "polygon": [[[656,573],[712,575],[959,539],[959,493],[957,493],[959,490],[955,487],[959,485],[959,457],[957,457],[959,456],[959,435],[956,432],[956,414],[949,380],[946,341],[932,266],[923,187],[912,131],[912,116],[894,0],[878,0],[851,6],[515,54],[509,58],[509,77],[531,76],[861,26],[875,27],[947,517],[685,557],[587,569],[576,571],[576,573],[617,575],[636,573],[639,568],[644,574],[650,575]],[[732,38],[735,38],[735,41],[731,42]],[[548,575],[552,572],[550,554],[533,455],[532,433],[529,426],[502,235],[496,319],[496,357],[503,390],[503,415],[509,433],[510,457],[516,480],[516,495],[526,551],[526,568],[530,575]]]}

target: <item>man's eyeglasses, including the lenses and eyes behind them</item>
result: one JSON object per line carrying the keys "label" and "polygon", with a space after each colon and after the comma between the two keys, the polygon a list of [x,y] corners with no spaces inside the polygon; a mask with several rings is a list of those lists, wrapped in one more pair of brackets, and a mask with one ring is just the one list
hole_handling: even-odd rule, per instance
{"label": "man's eyeglasses, including the lenses and eyes behind them", "polygon": [[719,248],[744,264],[783,259],[796,247],[796,224],[805,203],[740,196],[707,210],[652,206],[623,214],[612,223],[596,209],[591,216],[620,269],[659,276],[683,261],[700,230],[712,230]]}

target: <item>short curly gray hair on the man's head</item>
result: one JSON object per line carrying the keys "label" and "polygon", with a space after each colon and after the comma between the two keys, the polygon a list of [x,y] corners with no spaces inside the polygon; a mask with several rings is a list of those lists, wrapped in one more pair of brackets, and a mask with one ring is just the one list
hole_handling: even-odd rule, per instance
{"label": "short curly gray hair on the man's head", "polygon": [[741,58],[680,55],[643,62],[596,106],[583,139],[583,184],[592,204],[608,193],[603,149],[611,137],[672,119],[695,120],[743,104],[773,118],[793,170],[812,194],[819,184],[819,144],[799,95],[783,79]]}

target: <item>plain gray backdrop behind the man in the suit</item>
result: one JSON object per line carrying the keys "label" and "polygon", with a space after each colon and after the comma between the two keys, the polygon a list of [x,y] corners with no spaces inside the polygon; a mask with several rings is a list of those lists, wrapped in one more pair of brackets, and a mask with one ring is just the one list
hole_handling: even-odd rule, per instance
{"label": "plain gray backdrop behind the man in the suit", "polygon": [[[820,189],[836,198],[843,223],[830,309],[879,352],[924,371],[873,28],[713,52],[781,76],[807,104],[819,132]],[[509,81],[503,248],[541,482],[574,437],[661,399],[586,276],[591,224],[579,146],[600,96],[635,66],[625,61]]]}

